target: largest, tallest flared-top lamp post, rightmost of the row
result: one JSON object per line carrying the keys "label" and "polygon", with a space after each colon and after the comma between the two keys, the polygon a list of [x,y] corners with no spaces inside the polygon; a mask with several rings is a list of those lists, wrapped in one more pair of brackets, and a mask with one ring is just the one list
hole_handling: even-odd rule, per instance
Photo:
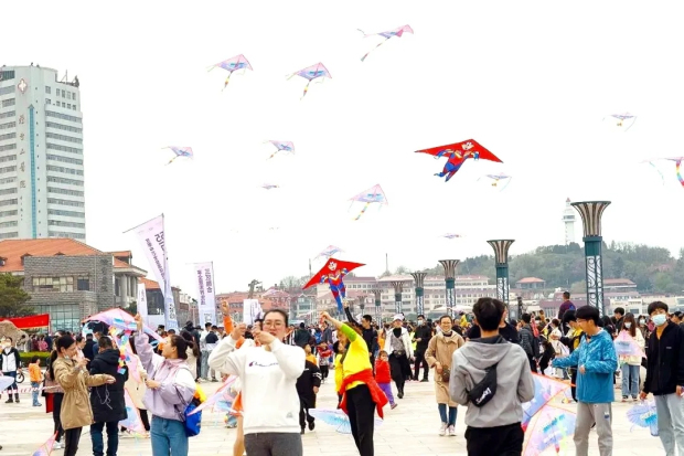
{"label": "largest, tallest flared-top lamp post, rightmost of the row", "polygon": [[603,261],[601,257],[601,216],[610,201],[583,201],[571,203],[581,215],[584,225],[585,261],[587,266],[587,303],[606,315],[603,308]]}

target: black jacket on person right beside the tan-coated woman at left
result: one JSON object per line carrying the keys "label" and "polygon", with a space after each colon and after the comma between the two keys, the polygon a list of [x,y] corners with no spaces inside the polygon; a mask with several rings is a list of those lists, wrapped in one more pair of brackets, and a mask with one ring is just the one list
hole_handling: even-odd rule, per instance
{"label": "black jacket on person right beside the tan-coated woman at left", "polygon": [[126,400],[124,383],[128,380],[128,368],[124,374],[118,373],[119,351],[107,349],[90,362],[90,375],[106,373],[116,382],[90,389],[90,407],[95,423],[119,422],[126,420]]}

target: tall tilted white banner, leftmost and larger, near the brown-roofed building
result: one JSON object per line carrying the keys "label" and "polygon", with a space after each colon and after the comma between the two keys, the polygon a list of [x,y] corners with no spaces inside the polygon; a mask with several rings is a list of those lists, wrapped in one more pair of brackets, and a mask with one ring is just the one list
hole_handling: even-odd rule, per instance
{"label": "tall tilted white banner, leftmost and larger, near the brown-roofed building", "polygon": [[167,329],[178,329],[175,303],[173,301],[171,275],[169,274],[169,258],[164,242],[164,216],[163,214],[159,215],[133,230],[145,248],[148,263],[152,266],[154,277],[164,296],[164,326]]}

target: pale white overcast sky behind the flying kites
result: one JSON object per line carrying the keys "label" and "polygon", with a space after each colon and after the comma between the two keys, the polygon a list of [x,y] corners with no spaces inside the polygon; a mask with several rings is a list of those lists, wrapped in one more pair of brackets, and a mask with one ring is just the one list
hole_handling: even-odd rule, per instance
{"label": "pale white overcast sky behind the flying kites", "polygon": [[[163,4],[163,7],[160,7]],[[684,188],[684,65],[677,1],[35,1],[3,21],[0,64],[39,63],[81,81],[87,243],[132,250],[164,214],[171,280],[195,294],[192,263],[218,291],[308,274],[329,244],[360,275],[562,244],[565,200],[608,200],[603,236],[676,254]],[[366,33],[409,24],[415,33]],[[11,39],[10,39],[11,38]],[[9,39],[9,40],[8,40]],[[244,54],[254,71],[207,72]],[[332,78],[287,79],[322,62]],[[610,114],[637,115],[627,131]],[[475,139],[503,163],[416,150]],[[293,156],[267,160],[266,140]],[[165,146],[190,146],[193,160]],[[513,177],[504,191],[488,173]],[[264,190],[264,183],[279,189]],[[349,199],[380,183],[388,205]],[[271,230],[276,229],[277,230]],[[577,241],[581,225],[578,218]],[[466,237],[448,241],[445,233]],[[313,272],[322,261],[312,264]],[[493,265],[492,265],[493,268]]]}

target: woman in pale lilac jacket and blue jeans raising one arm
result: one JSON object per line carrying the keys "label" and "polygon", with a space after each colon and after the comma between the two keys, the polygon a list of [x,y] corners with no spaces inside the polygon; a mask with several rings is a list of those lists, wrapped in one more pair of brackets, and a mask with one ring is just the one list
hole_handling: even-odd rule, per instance
{"label": "woman in pale lilac jacket and blue jeans raising one arm", "polygon": [[138,335],[136,351],[148,373],[143,403],[152,413],[150,438],[153,456],[188,456],[185,409],[195,394],[195,378],[188,365],[188,342],[171,335],[161,356],[156,354],[149,336],[142,329],[142,317],[136,315]]}

